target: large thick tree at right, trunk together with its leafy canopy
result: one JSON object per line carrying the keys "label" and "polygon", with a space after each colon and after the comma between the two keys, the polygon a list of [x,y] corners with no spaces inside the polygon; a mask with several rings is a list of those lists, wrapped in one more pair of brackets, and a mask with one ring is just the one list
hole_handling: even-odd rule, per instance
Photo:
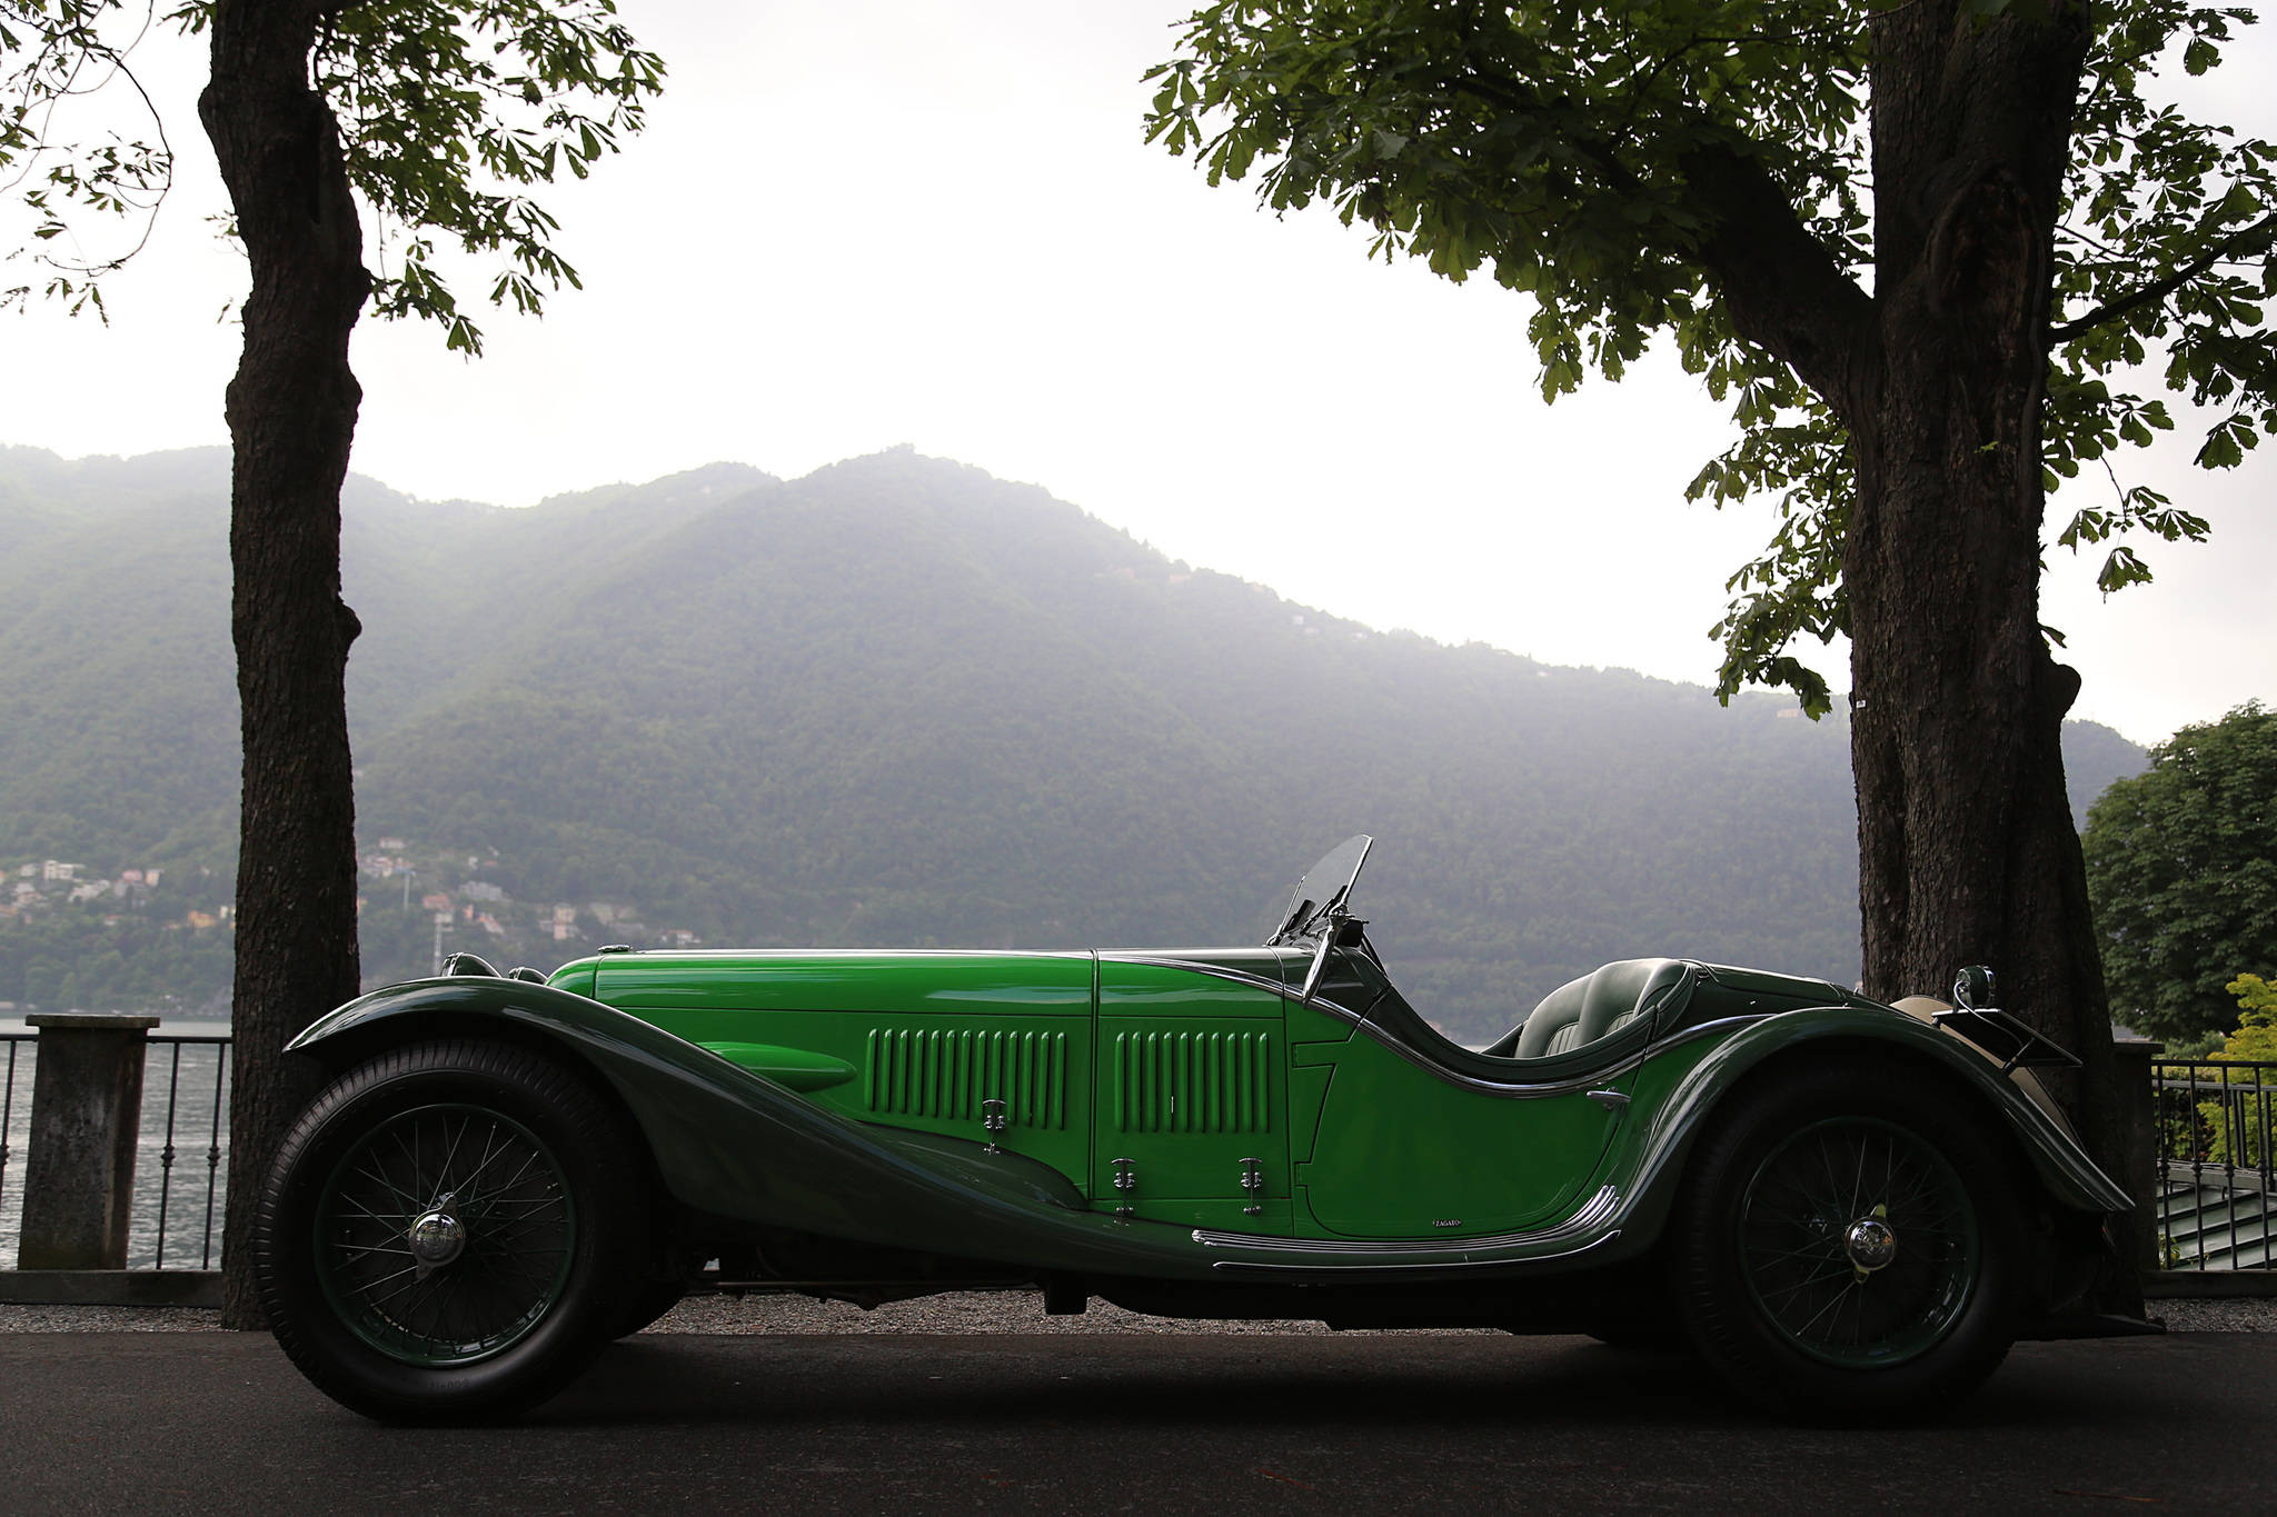
{"label": "large thick tree at right, trunk together with its leafy canopy", "polygon": [[[1532,298],[1542,393],[1658,332],[1740,439],[1694,482],[1778,498],[1728,582],[1724,694],[1851,639],[1865,989],[1990,962],[2077,1048],[2113,1162],[2118,1085],[2058,730],[2047,494],[2170,425],[2111,375],[2161,350],[2213,407],[2200,462],[2277,430],[2272,150],[2147,100],[2245,11],[2175,0],[1225,0],[1154,71],[1150,132],[1275,209],[1327,200],[1453,280]],[[2054,544],[2202,537],[2118,487]],[[2129,1244],[2134,1240],[2127,1240]],[[2134,1258],[2134,1246],[2122,1255]],[[2118,1305],[2129,1305],[2120,1285]]]}

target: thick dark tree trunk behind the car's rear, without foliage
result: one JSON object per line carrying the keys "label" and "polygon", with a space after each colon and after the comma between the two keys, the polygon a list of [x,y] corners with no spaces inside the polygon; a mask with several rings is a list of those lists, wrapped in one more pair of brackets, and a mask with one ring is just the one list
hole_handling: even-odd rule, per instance
{"label": "thick dark tree trunk behind the car's rear, without foliage", "polygon": [[[1874,41],[1874,334],[1838,403],[1858,471],[1842,580],[1865,989],[1942,996],[1990,964],[2001,1008],[2086,1062],[2049,1085],[2134,1189],[2063,787],[2079,675],[2040,632],[2038,416],[2088,18],[1915,5]],[[2140,1244],[2115,1242],[2129,1267],[2102,1305],[2138,1315]]]}

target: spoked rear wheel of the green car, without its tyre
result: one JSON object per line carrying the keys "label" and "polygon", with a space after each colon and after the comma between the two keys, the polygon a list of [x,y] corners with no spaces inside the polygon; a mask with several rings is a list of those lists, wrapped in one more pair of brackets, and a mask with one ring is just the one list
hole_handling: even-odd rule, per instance
{"label": "spoked rear wheel of the green car, without its tyre", "polygon": [[1879,1369],[1926,1353],[1981,1276],[1960,1176],[1929,1142],[1874,1117],[1817,1121],[1776,1144],[1735,1221],[1765,1324],[1826,1365]]}

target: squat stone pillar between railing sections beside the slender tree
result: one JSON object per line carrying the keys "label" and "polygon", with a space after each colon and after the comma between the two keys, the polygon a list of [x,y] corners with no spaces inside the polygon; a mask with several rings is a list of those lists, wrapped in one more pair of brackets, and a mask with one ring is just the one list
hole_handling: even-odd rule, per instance
{"label": "squat stone pillar between railing sections beside the slender tree", "polygon": [[143,1046],[157,1017],[34,1012],[39,1073],[16,1269],[125,1269]]}

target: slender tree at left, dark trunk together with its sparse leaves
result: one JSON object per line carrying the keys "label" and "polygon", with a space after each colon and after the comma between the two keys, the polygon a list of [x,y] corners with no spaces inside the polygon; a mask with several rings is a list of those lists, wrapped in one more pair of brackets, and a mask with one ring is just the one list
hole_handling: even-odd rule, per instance
{"label": "slender tree at left, dark trunk together with its sparse leaves", "polygon": [[[73,209],[148,212],[171,184],[162,136],[80,146],[55,130],[73,93],[107,75],[132,82],[132,45],[105,32],[114,9],[121,0],[0,0],[11,55],[0,168],[20,159],[39,246]],[[496,259],[496,305],[537,312],[576,284],[553,248],[558,223],[524,191],[560,171],[585,177],[638,132],[663,61],[613,0],[189,0],[166,20],[212,39],[198,118],[250,266],[223,407],[244,789],[221,1258],[223,1321],[260,1326],[253,1205],[305,1096],[285,1044],[357,994],[346,666],[360,623],[339,587],[339,487],[362,389],[348,334],[373,305],[433,318],[449,348],[480,353],[437,237]],[[392,268],[364,266],[364,214]],[[43,262],[48,293],[100,309],[100,280],[123,257]]]}

